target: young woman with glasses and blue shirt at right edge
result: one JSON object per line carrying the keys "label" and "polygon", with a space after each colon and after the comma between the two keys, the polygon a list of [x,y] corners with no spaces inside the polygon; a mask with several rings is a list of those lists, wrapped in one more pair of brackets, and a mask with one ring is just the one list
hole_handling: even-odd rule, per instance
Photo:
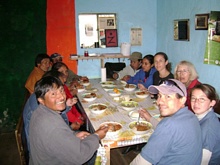
{"label": "young woman with glasses and blue shirt at right edge", "polygon": [[202,165],[220,162],[220,122],[213,107],[218,101],[215,88],[199,84],[191,90],[191,106],[198,117],[202,129]]}

